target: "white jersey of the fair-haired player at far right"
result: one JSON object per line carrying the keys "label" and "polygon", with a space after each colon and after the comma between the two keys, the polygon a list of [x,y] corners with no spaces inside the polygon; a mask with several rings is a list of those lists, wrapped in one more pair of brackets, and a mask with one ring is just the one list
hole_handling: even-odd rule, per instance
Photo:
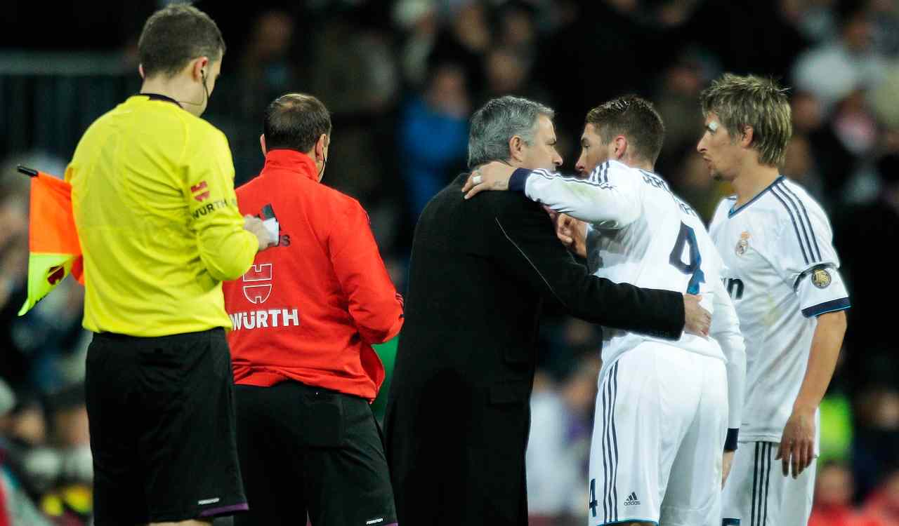
{"label": "white jersey of the fair-haired player at far right", "polygon": [[806,374],[816,317],[850,306],[827,215],[780,176],[739,208],[717,207],[709,233],[746,340],[741,441],[779,442]]}

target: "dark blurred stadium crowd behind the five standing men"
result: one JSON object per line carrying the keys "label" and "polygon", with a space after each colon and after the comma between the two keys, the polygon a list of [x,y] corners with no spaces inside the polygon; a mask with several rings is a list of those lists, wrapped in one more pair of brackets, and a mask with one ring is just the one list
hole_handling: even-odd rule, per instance
{"label": "dark blurred stadium crowd behind the five standing men", "polygon": [[[28,180],[14,166],[63,173],[85,127],[138,91],[138,34],[163,4],[4,3],[0,468],[14,524],[86,523],[91,480],[79,383],[89,341],[80,328],[82,290],[67,280],[15,317],[27,267]],[[708,221],[728,189],[709,180],[695,153],[699,92],[725,71],[789,86],[794,135],[782,172],[831,215],[853,302],[822,406],[813,523],[899,524],[899,359],[889,329],[897,281],[890,254],[899,241],[899,2],[197,5],[228,46],[204,117],[230,141],[236,182],[262,167],[265,105],[283,92],[320,97],[334,120],[325,184],[369,210],[400,290],[415,218],[464,168],[467,118],[487,99],[513,93],[554,107],[564,168],[573,171],[586,110],[625,92],[648,97],[668,127],[657,170]],[[599,338],[549,306],[531,400],[532,524],[583,524]],[[394,347],[380,349],[388,363]]]}

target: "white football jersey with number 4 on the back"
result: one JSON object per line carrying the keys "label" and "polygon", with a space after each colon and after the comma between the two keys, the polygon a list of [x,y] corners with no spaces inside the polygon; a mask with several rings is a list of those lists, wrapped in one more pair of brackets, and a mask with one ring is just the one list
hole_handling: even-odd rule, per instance
{"label": "white football jersey with number 4 on the back", "polygon": [[702,294],[712,338],[679,340],[603,328],[603,368],[646,340],[719,358],[728,364],[729,427],[739,427],[745,355],[734,306],[721,281],[722,261],[696,212],[660,176],[609,161],[587,179],[516,171],[510,189],[590,224],[587,259],[595,276],[616,283]]}

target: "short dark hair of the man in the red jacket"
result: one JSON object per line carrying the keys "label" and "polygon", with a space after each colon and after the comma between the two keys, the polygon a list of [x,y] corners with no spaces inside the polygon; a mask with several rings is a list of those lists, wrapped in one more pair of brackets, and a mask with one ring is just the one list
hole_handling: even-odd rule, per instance
{"label": "short dark hair of the man in the red jacket", "polygon": [[325,104],[306,93],[288,93],[265,109],[265,148],[308,153],[322,134],[331,135],[331,114]]}

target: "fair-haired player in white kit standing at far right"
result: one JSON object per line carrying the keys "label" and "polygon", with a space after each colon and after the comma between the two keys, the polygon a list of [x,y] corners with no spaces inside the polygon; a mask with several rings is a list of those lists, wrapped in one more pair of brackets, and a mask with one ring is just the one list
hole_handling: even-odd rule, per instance
{"label": "fair-haired player in white kit standing at far right", "polygon": [[[712,177],[736,191],[718,205],[709,232],[725,260],[747,355],[740,447],[722,519],[725,526],[804,525],[817,410],[840,353],[849,294],[827,215],[778,171],[792,132],[785,90],[724,75],[701,101],[706,130],[697,149]],[[774,460],[781,469],[772,474]]]}

